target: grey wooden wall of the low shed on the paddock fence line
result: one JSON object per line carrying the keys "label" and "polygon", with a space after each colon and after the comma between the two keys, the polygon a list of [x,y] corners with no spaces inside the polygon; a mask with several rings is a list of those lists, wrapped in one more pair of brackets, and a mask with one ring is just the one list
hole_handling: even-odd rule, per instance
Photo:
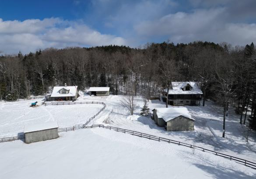
{"label": "grey wooden wall of the low shed on the paddock fence line", "polygon": [[58,138],[58,128],[46,129],[42,131],[34,131],[25,133],[25,142],[27,144],[38,141],[46,141],[49,139]]}

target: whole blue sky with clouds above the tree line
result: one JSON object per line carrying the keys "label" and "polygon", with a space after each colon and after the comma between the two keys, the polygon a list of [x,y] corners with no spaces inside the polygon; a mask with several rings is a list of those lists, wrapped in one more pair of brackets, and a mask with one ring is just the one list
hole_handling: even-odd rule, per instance
{"label": "whole blue sky with clouds above the tree line", "polygon": [[0,52],[256,42],[255,0],[0,0]]}

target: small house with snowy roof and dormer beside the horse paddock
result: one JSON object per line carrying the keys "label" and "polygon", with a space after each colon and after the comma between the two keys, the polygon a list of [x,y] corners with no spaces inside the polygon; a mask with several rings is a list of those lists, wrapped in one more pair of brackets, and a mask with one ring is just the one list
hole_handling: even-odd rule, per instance
{"label": "small house with snowy roof and dormer beside the horse paddock", "polygon": [[77,100],[77,86],[54,86],[51,100]]}

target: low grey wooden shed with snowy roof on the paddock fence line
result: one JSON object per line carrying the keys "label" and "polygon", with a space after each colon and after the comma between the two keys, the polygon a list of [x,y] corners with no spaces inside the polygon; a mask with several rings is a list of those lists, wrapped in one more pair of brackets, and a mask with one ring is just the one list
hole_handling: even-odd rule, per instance
{"label": "low grey wooden shed with snowy roof on the paddock fence line", "polygon": [[58,124],[55,121],[41,124],[27,124],[24,127],[24,134],[27,144],[58,138]]}

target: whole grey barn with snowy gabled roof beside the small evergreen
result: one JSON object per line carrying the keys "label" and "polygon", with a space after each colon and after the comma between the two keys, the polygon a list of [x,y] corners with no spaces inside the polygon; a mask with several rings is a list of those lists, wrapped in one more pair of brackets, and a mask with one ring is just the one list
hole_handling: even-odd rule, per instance
{"label": "whole grey barn with snowy gabled roof beside the small evergreen", "polygon": [[193,131],[194,119],[186,107],[155,108],[153,118],[158,126],[167,131]]}

